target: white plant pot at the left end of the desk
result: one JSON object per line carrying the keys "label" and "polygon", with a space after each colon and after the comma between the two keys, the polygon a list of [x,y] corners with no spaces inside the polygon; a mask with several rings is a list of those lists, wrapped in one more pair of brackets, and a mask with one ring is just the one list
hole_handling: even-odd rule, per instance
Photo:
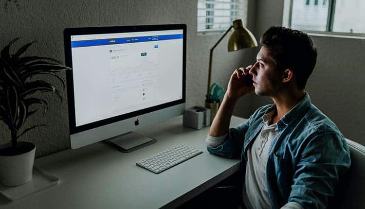
{"label": "white plant pot at the left end of the desk", "polygon": [[[1,144],[0,150],[10,146],[11,143]],[[19,146],[30,146],[31,148],[30,151],[14,156],[0,155],[0,181],[5,186],[18,186],[32,180],[36,145],[19,141]]]}

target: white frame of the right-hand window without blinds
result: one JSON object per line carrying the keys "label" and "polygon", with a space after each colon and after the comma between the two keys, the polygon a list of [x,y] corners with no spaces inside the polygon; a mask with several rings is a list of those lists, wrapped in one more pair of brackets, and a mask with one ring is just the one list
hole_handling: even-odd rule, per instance
{"label": "white frame of the right-hand window without blinds", "polygon": [[[327,14],[326,31],[310,31],[310,30],[302,30],[302,31],[308,33],[309,35],[365,39],[365,33],[333,32],[333,21],[336,9],[335,8],[336,0],[328,0],[328,2],[329,2],[329,9]],[[293,5],[293,0],[284,0],[283,26],[288,28],[292,28],[292,5]]]}

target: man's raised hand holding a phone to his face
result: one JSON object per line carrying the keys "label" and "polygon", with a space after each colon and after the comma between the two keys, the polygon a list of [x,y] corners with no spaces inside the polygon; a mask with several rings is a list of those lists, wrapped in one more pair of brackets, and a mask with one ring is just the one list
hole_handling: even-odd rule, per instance
{"label": "man's raised hand holding a phone to his face", "polygon": [[238,99],[239,97],[248,94],[255,89],[255,87],[248,87],[245,84],[245,76],[248,76],[248,71],[252,67],[253,65],[250,65],[246,68],[240,67],[232,73],[226,92],[226,96],[228,96],[228,98]]}

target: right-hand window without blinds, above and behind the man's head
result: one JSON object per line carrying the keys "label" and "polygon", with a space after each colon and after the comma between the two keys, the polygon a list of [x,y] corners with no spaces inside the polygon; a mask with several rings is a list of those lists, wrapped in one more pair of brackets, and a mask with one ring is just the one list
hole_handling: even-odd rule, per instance
{"label": "right-hand window without blinds, above and behind the man's head", "polygon": [[361,35],[365,34],[364,11],[365,0],[290,0],[289,27]]}

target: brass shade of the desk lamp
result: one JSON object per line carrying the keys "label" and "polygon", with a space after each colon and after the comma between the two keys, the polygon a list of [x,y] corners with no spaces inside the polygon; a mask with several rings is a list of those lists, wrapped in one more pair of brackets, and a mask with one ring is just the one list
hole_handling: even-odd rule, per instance
{"label": "brass shade of the desk lamp", "polygon": [[228,52],[257,46],[255,36],[243,27],[242,19],[233,21],[233,28],[234,31],[228,39]]}

